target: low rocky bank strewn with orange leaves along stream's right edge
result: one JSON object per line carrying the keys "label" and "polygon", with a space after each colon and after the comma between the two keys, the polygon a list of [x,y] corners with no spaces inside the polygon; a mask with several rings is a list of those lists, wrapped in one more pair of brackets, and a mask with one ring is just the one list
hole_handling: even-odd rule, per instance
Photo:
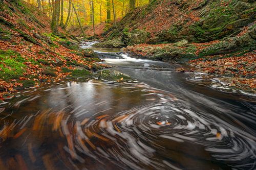
{"label": "low rocky bank strewn with orange leaves along stream's right edge", "polygon": [[136,58],[188,64],[194,69],[179,68],[176,71],[216,75],[220,83],[227,84],[232,90],[256,94],[256,51],[253,50],[255,46],[248,45],[248,40],[255,41],[255,37],[248,38],[252,32],[255,34],[255,28],[225,41],[188,43],[181,40],[166,44],[136,44],[123,50]]}

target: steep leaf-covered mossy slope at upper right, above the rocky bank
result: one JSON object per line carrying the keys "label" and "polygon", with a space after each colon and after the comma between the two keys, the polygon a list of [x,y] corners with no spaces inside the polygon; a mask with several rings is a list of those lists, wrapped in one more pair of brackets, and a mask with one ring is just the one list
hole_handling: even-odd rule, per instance
{"label": "steep leaf-covered mossy slope at upper right, above the rocky bank", "polygon": [[126,30],[145,30],[147,43],[207,42],[234,37],[255,21],[254,1],[162,0],[137,8],[104,34],[118,37]]}

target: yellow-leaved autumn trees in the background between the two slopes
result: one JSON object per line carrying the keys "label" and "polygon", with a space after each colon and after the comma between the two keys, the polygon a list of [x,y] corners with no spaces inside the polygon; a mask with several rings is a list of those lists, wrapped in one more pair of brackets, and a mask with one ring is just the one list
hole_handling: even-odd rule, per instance
{"label": "yellow-leaved autumn trees in the background between the two slopes", "polygon": [[[0,0],[1,1],[1,0]],[[58,34],[58,27],[66,29],[69,24],[79,27],[105,21],[111,23],[136,7],[154,0],[24,0],[52,18],[51,28]],[[73,4],[73,5],[72,5]],[[94,28],[95,29],[95,28]]]}

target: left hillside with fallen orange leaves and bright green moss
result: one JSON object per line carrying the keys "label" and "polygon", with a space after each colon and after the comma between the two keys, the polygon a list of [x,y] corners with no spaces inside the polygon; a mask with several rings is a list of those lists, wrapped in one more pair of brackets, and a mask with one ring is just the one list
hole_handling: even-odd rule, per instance
{"label": "left hillside with fallen orange leaves and bright green moss", "polygon": [[77,39],[59,28],[53,35],[51,19],[36,7],[18,1],[0,6],[0,100],[12,98],[15,89],[58,81],[65,77],[91,77],[102,68],[87,58]]}

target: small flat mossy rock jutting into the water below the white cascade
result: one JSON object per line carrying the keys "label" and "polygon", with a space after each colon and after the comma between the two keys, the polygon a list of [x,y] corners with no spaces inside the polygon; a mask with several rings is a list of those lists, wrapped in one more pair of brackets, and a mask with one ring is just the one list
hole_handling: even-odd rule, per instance
{"label": "small flat mossy rock jutting into the water below the white cascade", "polygon": [[129,75],[122,74],[116,70],[102,70],[98,73],[99,79],[103,81],[112,81],[112,82],[127,82],[133,81]]}

